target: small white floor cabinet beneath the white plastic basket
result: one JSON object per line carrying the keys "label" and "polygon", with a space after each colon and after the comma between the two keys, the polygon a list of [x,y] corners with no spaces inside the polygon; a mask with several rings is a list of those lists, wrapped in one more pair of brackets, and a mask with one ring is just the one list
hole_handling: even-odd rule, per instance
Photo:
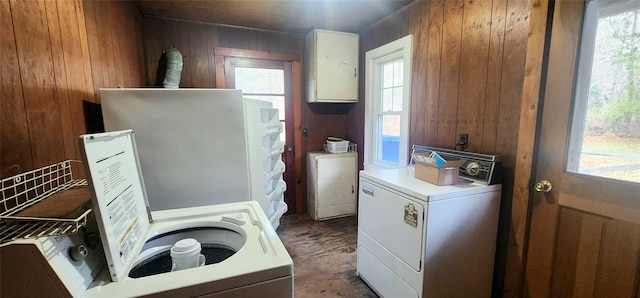
{"label": "small white floor cabinet beneath the white plastic basket", "polygon": [[314,220],[356,213],[356,152],[308,153],[307,211]]}

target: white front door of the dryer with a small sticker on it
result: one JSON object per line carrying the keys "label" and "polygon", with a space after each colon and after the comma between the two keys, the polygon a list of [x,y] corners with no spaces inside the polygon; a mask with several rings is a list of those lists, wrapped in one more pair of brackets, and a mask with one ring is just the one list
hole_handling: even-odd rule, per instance
{"label": "white front door of the dryer with a small sticker on it", "polygon": [[360,180],[358,228],[416,271],[421,271],[425,207],[420,201]]}

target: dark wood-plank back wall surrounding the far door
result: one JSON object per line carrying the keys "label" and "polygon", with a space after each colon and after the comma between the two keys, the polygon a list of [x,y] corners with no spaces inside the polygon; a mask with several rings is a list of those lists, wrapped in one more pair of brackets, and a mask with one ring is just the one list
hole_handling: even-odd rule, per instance
{"label": "dark wood-plank back wall surrounding the far door", "polygon": [[[215,47],[266,51],[272,53],[299,55],[304,65],[304,35],[237,28],[189,21],[177,21],[160,18],[144,18],[145,61],[148,76],[147,84],[153,86],[158,72],[159,60],[163,50],[175,47],[183,55],[181,88],[215,88]],[[303,74],[297,74],[298,81],[304,82]],[[161,80],[159,80],[161,81]],[[327,136],[345,137],[347,135],[346,110],[352,105],[308,104],[304,86],[300,88],[301,104],[300,130],[306,128],[308,136],[302,139],[302,148],[296,148],[296,157],[305,160],[306,153],[322,150]],[[306,162],[302,162],[303,175],[296,177],[296,193],[306,193]],[[288,186],[288,190],[294,187]],[[295,203],[287,201],[289,212],[306,212],[306,198],[296,197]]]}

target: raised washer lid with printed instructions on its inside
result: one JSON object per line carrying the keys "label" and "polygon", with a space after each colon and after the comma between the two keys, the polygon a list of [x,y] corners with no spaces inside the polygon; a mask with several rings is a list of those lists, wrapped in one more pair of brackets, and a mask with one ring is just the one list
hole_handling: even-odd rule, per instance
{"label": "raised washer lid with printed instructions on its inside", "polygon": [[152,221],[133,131],[82,135],[80,148],[111,279],[120,281]]}

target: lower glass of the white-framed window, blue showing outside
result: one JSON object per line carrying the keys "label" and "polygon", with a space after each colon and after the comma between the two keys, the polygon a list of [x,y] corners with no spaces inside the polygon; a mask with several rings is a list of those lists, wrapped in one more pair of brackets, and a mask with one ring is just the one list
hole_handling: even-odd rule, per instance
{"label": "lower glass of the white-framed window, blue showing outside", "polygon": [[381,115],[378,159],[397,164],[400,160],[400,115]]}

